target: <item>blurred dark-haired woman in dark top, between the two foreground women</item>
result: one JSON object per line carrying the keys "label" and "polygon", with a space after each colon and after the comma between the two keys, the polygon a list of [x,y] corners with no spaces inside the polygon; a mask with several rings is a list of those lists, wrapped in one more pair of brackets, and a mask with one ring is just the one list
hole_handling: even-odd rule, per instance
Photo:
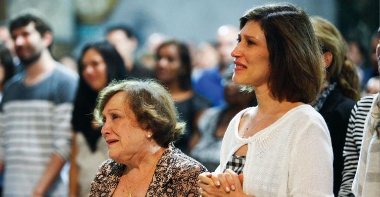
{"label": "blurred dark-haired woman in dark top, between the two foreground women", "polygon": [[186,44],[166,41],[158,46],[156,57],[156,78],[169,89],[180,119],[187,122],[184,135],[174,145],[188,154],[193,146],[190,139],[196,132],[197,119],[211,104],[192,89],[190,51]]}

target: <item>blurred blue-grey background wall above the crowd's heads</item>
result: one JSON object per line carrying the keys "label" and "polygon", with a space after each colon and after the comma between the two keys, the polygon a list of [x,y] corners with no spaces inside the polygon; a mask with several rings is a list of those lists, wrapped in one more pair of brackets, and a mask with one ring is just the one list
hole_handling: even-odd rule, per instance
{"label": "blurred blue-grey background wall above the crowd's heads", "polygon": [[[379,0],[288,0],[335,24],[346,37],[368,45],[379,26]],[[55,57],[76,57],[89,40],[104,39],[110,25],[124,23],[138,34],[140,49],[155,32],[197,44],[213,41],[219,26],[266,0],[0,0],[0,22],[25,9],[44,13],[53,27]],[[277,0],[271,2],[278,2]]]}

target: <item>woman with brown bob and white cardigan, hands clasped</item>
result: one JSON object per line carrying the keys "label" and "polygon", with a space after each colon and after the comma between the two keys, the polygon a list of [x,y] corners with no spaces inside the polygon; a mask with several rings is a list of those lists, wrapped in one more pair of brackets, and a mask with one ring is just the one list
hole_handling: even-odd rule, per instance
{"label": "woman with brown bob and white cardigan, hands clasped", "polygon": [[199,175],[209,196],[332,197],[332,144],[325,120],[308,105],[324,80],[321,47],[307,14],[289,3],[240,18],[233,80],[253,89],[225,133],[220,165]]}

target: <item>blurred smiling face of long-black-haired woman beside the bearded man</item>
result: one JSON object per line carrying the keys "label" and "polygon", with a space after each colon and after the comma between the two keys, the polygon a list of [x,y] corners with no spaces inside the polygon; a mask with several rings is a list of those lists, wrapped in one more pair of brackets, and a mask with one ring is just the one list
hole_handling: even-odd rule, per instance
{"label": "blurred smiling face of long-black-haired woman beside the bearded man", "polygon": [[95,91],[107,85],[107,66],[101,54],[94,48],[88,49],[82,57],[82,76]]}

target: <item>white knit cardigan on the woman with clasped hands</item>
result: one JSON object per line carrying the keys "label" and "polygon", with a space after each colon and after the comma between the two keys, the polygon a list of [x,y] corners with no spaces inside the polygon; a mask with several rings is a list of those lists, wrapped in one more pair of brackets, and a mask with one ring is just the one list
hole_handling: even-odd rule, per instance
{"label": "white knit cardigan on the woman with clasped hands", "polygon": [[223,172],[228,158],[247,144],[244,193],[255,197],[333,197],[332,145],[322,116],[310,105],[301,105],[243,139],[238,136],[238,126],[248,110],[257,111],[257,107],[242,110],[231,120],[216,172]]}

